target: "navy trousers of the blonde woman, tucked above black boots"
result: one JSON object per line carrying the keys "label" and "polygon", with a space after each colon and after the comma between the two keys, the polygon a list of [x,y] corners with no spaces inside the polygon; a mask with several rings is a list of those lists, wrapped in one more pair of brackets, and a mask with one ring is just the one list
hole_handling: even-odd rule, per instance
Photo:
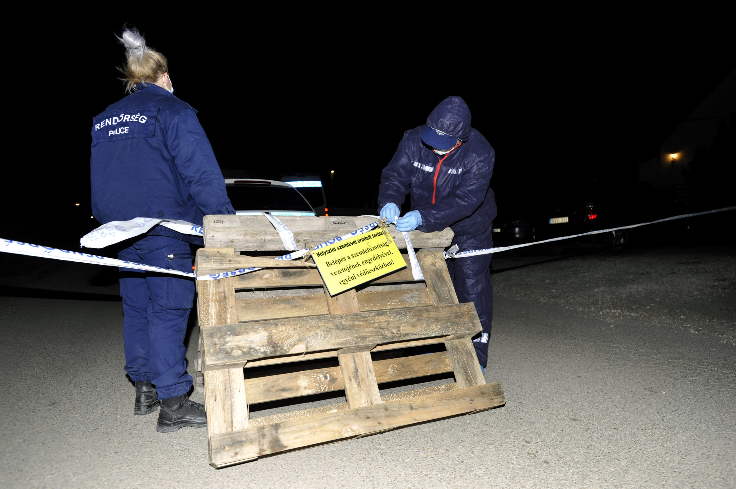
{"label": "navy trousers of the blonde woman, tucked above black boots", "polygon": [[[191,272],[189,243],[146,236],[118,253],[120,260]],[[188,392],[186,334],[194,302],[194,279],[120,268],[123,298],[125,371],[135,381],[150,380],[159,399]]]}

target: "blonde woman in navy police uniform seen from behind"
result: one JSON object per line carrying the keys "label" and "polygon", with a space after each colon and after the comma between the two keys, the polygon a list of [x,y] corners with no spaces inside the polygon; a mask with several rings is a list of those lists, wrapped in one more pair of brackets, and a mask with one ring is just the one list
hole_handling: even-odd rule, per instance
{"label": "blonde woman in navy police uniform seen from behind", "polygon": [[[215,155],[192,107],[174,96],[166,57],[135,29],[121,42],[130,93],[93,118],[91,186],[94,217],[180,219],[202,225],[208,214],[233,214]],[[191,244],[202,238],[156,226],[118,258],[191,272]],[[188,398],[186,333],[194,280],[120,269],[125,371],[135,385],[133,413],[160,405],[156,431],[207,426],[204,406]]]}

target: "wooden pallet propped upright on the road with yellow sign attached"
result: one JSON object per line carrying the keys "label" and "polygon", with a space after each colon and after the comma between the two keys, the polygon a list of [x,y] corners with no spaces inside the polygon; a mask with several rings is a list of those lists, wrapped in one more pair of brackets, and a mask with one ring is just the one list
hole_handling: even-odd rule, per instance
{"label": "wooden pallet propped upright on the road with yellow sign attached", "polygon": [[[305,248],[375,219],[284,216],[282,221],[297,246]],[[248,260],[243,255],[263,256],[255,251],[267,251],[271,257],[286,254],[263,216],[208,215],[204,233],[197,275],[239,268],[238,263]],[[423,282],[414,280],[406,254],[407,268],[334,297],[322,288],[316,268],[293,262],[197,282],[198,366],[204,381],[210,465],[225,467],[506,402],[498,382],[486,384],[475,356],[470,338],[481,331],[475,307],[459,304],[447,273],[442,250],[453,233],[448,228],[410,235]],[[392,228],[392,236],[406,249],[400,232]],[[436,343],[444,343],[446,351],[378,360],[381,351]],[[303,366],[316,359],[336,359],[337,364]],[[249,375],[255,371],[258,376]],[[381,382],[450,371],[456,379],[450,384],[385,396],[378,390]],[[251,404],[333,390],[344,390],[347,402],[249,418]]]}

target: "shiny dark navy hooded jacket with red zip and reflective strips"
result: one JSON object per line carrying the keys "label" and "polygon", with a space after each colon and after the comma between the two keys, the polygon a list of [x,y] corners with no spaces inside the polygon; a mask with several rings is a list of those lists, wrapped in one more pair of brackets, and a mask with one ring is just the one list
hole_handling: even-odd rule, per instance
{"label": "shiny dark navy hooded jacket with red zip and reflective strips", "polygon": [[459,138],[461,146],[437,155],[422,142],[425,126],[406,131],[391,162],[383,168],[379,212],[389,203],[400,206],[408,193],[411,210],[422,215],[417,229],[432,232],[450,226],[455,242],[475,238],[488,230],[497,213],[489,186],[493,148],[470,127],[470,109],[460,97],[443,100],[429,115],[427,126]]}

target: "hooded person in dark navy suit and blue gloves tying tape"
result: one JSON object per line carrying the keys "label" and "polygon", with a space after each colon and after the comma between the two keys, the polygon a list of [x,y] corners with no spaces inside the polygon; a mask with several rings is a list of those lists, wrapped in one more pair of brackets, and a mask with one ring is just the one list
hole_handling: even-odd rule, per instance
{"label": "hooded person in dark navy suit and blue gloves tying tape", "polygon": [[[470,109],[460,97],[447,97],[425,126],[404,132],[391,162],[383,168],[378,190],[381,217],[400,215],[408,193],[411,211],[396,221],[398,231],[453,230],[459,251],[491,248],[496,202],[490,179],[495,153],[480,132],[470,127]],[[473,302],[483,330],[473,338],[478,362],[488,363],[493,315],[491,254],[447,260],[460,302]]]}

